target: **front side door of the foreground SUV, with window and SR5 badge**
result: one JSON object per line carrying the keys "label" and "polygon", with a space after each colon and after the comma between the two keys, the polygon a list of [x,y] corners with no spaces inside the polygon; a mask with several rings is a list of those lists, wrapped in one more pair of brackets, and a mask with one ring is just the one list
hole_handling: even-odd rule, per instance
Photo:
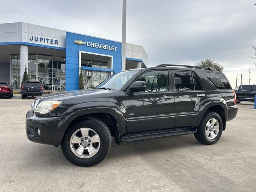
{"label": "front side door of the foreground SUV, with window and SR5 badge", "polygon": [[145,92],[126,94],[128,133],[174,128],[174,98],[170,89],[170,70],[146,71],[136,80],[145,81],[147,89]]}

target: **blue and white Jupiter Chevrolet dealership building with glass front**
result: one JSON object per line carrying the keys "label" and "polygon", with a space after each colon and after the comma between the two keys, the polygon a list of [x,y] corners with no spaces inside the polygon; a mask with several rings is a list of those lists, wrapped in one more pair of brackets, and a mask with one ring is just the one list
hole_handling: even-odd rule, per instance
{"label": "blue and white Jupiter Chevrolet dealership building with glass front", "polygon": [[[24,22],[0,24],[0,82],[20,88],[25,67],[29,80],[46,90],[94,88],[122,69],[122,43]],[[140,45],[126,43],[125,68],[147,67]]]}

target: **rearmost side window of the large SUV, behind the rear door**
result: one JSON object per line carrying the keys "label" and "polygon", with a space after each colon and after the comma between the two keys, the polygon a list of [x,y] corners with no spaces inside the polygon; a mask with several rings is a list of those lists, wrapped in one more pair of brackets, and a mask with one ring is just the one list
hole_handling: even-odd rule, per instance
{"label": "rearmost side window of the large SUV, behind the rear door", "polygon": [[227,78],[221,73],[202,72],[218,89],[232,89]]}

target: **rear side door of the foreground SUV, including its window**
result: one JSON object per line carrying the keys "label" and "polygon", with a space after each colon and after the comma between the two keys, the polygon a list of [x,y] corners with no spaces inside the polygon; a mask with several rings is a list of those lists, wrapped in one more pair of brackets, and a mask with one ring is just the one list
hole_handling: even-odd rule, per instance
{"label": "rear side door of the foreground SUV, including its window", "polygon": [[198,122],[198,110],[207,98],[198,76],[192,71],[173,70],[175,98],[175,127],[194,126]]}

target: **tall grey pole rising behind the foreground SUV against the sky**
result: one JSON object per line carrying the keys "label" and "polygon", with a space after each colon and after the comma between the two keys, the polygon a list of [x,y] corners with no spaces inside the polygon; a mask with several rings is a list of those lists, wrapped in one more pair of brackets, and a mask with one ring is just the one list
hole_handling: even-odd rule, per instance
{"label": "tall grey pole rising behind the foreground SUV against the sky", "polygon": [[122,71],[125,70],[126,62],[126,0],[123,0],[123,17],[122,17]]}

